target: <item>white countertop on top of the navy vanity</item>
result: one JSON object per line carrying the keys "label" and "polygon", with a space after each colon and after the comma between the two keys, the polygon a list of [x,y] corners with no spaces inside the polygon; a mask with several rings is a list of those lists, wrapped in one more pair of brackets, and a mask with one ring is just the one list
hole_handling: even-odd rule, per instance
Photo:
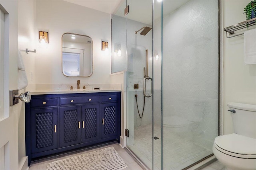
{"label": "white countertop on top of the navy vanity", "polygon": [[121,92],[122,90],[113,90],[113,89],[99,89],[99,90],[92,90],[92,89],[74,89],[74,90],[31,90],[31,95],[36,94],[72,94],[72,93],[102,93],[102,92]]}

